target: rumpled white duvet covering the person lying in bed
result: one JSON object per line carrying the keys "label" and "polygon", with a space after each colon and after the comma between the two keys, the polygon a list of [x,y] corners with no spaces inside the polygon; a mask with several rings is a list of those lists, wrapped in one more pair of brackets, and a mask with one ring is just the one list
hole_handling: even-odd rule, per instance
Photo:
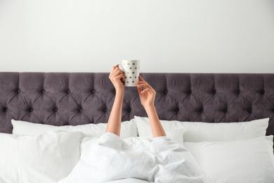
{"label": "rumpled white duvet covering the person lying in bed", "polygon": [[105,133],[58,183],[211,182],[182,145],[168,137],[122,139]]}

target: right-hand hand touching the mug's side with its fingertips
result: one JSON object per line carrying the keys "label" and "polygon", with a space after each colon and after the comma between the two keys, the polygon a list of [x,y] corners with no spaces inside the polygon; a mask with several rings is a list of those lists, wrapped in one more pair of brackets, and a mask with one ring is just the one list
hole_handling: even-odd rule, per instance
{"label": "right-hand hand touching the mug's side with its fingertips", "polygon": [[[140,96],[141,103],[144,108],[148,108],[151,106],[154,106],[154,100],[156,92],[152,87],[150,87],[150,84],[148,82],[145,82],[141,76],[139,76],[139,82],[136,82],[138,93]],[[142,87],[145,89],[142,91]]]}

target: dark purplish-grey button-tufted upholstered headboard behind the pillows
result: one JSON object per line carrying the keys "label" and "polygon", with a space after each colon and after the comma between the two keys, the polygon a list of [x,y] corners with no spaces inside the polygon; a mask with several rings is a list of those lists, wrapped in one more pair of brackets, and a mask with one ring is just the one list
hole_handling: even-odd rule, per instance
{"label": "dark purplish-grey button-tufted upholstered headboard behind the pillows", "polygon": [[[115,88],[107,72],[0,72],[0,132],[11,119],[48,125],[107,122]],[[162,120],[238,122],[270,118],[274,74],[141,73],[157,92]],[[136,87],[126,87],[122,121],[147,116]]]}

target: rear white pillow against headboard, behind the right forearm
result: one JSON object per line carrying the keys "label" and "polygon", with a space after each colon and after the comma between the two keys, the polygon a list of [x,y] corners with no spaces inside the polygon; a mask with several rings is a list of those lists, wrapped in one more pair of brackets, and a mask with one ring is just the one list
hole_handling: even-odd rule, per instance
{"label": "rear white pillow against headboard, behind the right forearm", "polygon": [[[138,135],[151,136],[150,121],[147,117],[134,116]],[[269,118],[249,122],[181,122],[160,120],[165,132],[172,135],[181,129],[183,141],[238,141],[266,136]],[[170,137],[171,138],[171,137]],[[171,138],[172,139],[172,138]]]}

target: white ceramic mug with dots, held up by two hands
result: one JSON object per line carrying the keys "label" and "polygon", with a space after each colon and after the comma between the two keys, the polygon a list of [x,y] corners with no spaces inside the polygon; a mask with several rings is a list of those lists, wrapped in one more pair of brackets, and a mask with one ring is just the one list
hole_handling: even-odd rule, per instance
{"label": "white ceramic mug with dots, held up by two hands", "polygon": [[136,87],[136,82],[139,81],[140,61],[138,60],[123,60],[122,64],[117,63],[118,66],[124,72],[124,86]]}

